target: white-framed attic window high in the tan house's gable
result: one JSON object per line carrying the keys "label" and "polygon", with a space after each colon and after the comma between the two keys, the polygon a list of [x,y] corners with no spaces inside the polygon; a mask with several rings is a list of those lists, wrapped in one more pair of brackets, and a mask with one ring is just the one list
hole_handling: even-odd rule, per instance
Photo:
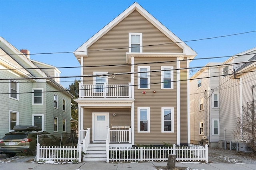
{"label": "white-framed attic window high in the tan house's gable", "polygon": [[129,33],[129,53],[142,53],[142,33]]}

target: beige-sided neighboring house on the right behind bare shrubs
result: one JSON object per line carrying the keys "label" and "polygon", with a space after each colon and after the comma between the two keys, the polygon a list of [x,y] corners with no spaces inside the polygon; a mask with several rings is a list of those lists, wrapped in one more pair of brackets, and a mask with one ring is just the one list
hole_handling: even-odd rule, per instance
{"label": "beige-sided neighboring house on the right behind bare shrubs", "polygon": [[[208,63],[190,78],[194,79],[190,80],[190,143],[223,148],[225,139],[242,141],[234,137],[233,130],[237,118],[243,117],[242,107],[256,96],[256,90],[253,94],[251,90],[256,86],[255,60],[256,47],[223,63]],[[218,66],[246,61],[254,62]]]}

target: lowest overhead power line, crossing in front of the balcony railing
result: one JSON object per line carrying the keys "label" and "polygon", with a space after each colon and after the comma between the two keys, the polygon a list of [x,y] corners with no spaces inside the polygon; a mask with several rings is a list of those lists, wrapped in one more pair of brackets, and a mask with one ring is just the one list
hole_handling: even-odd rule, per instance
{"label": "lowest overhead power line, crossing in front of the balcony railing", "polygon": [[[247,71],[247,72],[240,72],[239,74],[242,74],[242,73],[249,73],[249,72],[256,72],[256,70],[254,71]],[[226,74],[228,76],[230,75],[233,75],[233,74]],[[186,80],[174,80],[174,81],[170,81],[170,82],[182,82],[182,81],[188,81],[188,80],[198,80],[198,79],[202,79],[202,78],[213,78],[213,77],[220,77],[220,76],[223,76],[223,75],[218,75],[218,76],[208,76],[208,77],[201,77],[201,78],[190,78],[190,79],[186,79]],[[156,82],[156,83],[148,83],[149,84],[161,84],[161,83],[164,83],[164,82]],[[127,85],[127,86],[140,86],[140,85],[146,85],[146,84],[136,84],[136,85]],[[100,85],[98,85],[100,86]],[[116,87],[100,87],[100,88],[90,88],[90,89],[79,89],[79,90],[95,90],[95,89],[108,89],[108,88],[117,88],[118,86]],[[122,86],[124,87],[124,86]],[[49,93],[49,92],[70,92],[69,90],[55,90],[55,91],[44,91],[42,93]],[[0,93],[1,94],[30,94],[30,93],[34,93],[34,92],[19,92],[19,93]]]}

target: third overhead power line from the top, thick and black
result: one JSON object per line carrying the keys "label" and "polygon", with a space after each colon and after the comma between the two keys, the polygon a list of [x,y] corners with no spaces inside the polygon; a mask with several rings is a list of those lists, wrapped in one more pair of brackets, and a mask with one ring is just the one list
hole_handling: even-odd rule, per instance
{"label": "third overhead power line from the top, thick and black", "polygon": [[186,67],[186,68],[174,68],[174,69],[166,69],[166,70],[151,70],[151,71],[144,71],[144,72],[123,72],[123,73],[107,73],[107,74],[100,74],[100,75],[79,75],[79,76],[49,76],[49,77],[32,77],[32,78],[0,78],[0,80],[31,80],[31,79],[48,79],[48,78],[80,78],[80,77],[97,77],[97,76],[115,76],[115,75],[123,75],[123,74],[137,74],[137,73],[145,73],[145,72],[160,72],[160,71],[167,71],[167,70],[186,70],[191,68],[205,68],[205,67],[216,67],[216,66],[227,66],[227,65],[234,65],[234,64],[244,64],[244,63],[253,63],[256,60],[252,61],[244,61],[238,63],[228,63],[228,64],[216,64],[211,66],[196,66],[196,67]]}

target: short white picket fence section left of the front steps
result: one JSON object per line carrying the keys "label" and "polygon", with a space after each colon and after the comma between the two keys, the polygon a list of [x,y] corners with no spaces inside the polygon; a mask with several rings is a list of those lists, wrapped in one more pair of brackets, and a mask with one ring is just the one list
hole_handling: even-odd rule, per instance
{"label": "short white picket fence section left of the front steps", "polygon": [[36,146],[36,162],[40,160],[51,161],[78,161],[82,160],[82,147],[56,147],[56,146]]}

